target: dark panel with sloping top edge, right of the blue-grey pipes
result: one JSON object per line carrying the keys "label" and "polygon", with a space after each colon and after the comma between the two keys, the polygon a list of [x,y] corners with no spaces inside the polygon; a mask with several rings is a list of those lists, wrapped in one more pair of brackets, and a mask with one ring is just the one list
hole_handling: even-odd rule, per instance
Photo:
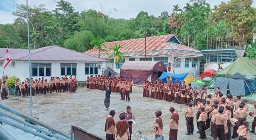
{"label": "dark panel with sloping top edge, right of the blue-grey pipes", "polygon": [[71,134],[71,140],[105,140],[76,126],[71,127]]}

